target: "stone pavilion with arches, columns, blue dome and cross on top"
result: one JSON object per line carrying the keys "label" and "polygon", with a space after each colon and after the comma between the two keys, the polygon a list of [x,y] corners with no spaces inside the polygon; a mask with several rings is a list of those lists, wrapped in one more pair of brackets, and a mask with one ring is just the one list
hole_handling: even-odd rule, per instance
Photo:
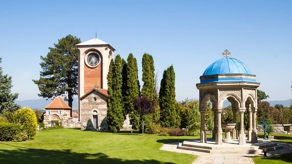
{"label": "stone pavilion with arches, columns, blue dome and cross on top", "polygon": [[[252,74],[248,67],[236,58],[229,57],[230,52],[225,50],[223,58],[212,63],[200,77],[200,83],[196,86],[200,90],[201,131],[200,141],[206,143],[205,112],[207,102],[212,102],[214,111],[214,130],[212,138],[215,144],[222,145],[221,113],[223,102],[228,100],[233,111],[233,123],[236,123],[236,115],[240,113],[239,134],[237,128],[232,130],[232,139],[238,139],[239,145],[246,143],[244,133],[244,113],[249,113],[248,140],[257,142],[256,112],[257,96],[256,75]],[[237,134],[239,136],[237,136]]]}

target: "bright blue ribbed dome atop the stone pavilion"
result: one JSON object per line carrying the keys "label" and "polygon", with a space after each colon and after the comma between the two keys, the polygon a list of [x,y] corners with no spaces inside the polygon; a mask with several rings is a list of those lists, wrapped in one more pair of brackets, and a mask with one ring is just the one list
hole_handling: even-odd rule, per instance
{"label": "bright blue ribbed dome atop the stone pavilion", "polygon": [[252,72],[236,58],[221,58],[212,63],[203,76],[212,74],[252,74]]}

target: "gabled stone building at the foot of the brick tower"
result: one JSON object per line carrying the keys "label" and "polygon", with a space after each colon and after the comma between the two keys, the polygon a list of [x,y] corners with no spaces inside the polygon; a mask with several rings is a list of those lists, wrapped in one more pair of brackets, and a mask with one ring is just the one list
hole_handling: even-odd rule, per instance
{"label": "gabled stone building at the foot of the brick tower", "polygon": [[94,88],[80,97],[81,129],[107,130],[108,90]]}

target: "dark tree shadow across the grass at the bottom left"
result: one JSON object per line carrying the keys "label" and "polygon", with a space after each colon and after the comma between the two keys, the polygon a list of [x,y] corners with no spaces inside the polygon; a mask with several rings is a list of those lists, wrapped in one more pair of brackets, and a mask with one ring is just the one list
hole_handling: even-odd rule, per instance
{"label": "dark tree shadow across the grass at the bottom left", "polygon": [[117,159],[104,153],[76,153],[70,149],[27,149],[16,146],[14,148],[13,150],[0,150],[1,164],[174,164],[157,160]]}

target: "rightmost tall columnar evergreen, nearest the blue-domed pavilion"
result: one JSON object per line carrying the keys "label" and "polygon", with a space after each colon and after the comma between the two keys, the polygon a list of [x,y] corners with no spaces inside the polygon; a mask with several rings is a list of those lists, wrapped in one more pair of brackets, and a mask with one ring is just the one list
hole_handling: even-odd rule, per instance
{"label": "rightmost tall columnar evergreen, nearest the blue-domed pavilion", "polygon": [[180,116],[175,100],[175,73],[171,65],[164,70],[159,91],[160,121],[163,127],[180,126]]}

